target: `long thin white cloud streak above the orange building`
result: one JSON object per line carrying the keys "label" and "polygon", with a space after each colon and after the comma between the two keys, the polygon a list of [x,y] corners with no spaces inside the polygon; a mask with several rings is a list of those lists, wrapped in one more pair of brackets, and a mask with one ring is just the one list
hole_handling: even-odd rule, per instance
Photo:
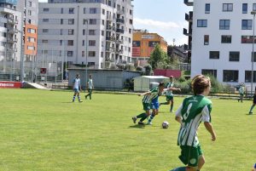
{"label": "long thin white cloud streak above the orange building", "polygon": [[151,26],[151,27],[153,26],[153,27],[161,28],[163,30],[180,27],[179,25],[177,25],[177,23],[174,23],[174,22],[163,22],[160,20],[139,19],[139,18],[134,18],[134,24],[135,25],[143,25],[143,26]]}

